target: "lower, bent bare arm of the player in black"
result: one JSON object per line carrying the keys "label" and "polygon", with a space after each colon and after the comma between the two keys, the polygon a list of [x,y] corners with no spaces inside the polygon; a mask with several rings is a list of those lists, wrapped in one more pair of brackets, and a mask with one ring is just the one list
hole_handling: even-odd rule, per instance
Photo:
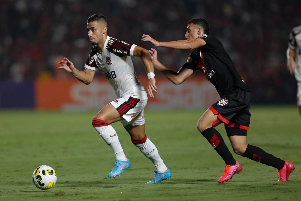
{"label": "lower, bent bare arm of the player in black", "polygon": [[166,68],[163,64],[161,64],[160,61],[158,61],[158,53],[155,49],[151,48],[151,50],[149,50],[149,53],[152,57],[153,64],[157,68],[157,70],[163,73],[164,76],[175,85],[181,84],[193,74],[193,70],[188,68],[180,68],[178,72],[172,71],[169,68]]}

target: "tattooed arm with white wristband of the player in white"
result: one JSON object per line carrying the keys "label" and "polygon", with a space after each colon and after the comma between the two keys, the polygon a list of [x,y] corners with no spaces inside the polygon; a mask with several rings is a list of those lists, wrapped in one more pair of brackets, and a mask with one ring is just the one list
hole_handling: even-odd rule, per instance
{"label": "tattooed arm with white wristband of the player in white", "polygon": [[147,93],[149,96],[154,98],[153,91],[158,93],[158,88],[156,86],[155,74],[154,74],[154,66],[151,61],[151,56],[148,51],[142,47],[136,46],[133,52],[133,56],[140,57],[147,73],[148,77],[148,86]]}

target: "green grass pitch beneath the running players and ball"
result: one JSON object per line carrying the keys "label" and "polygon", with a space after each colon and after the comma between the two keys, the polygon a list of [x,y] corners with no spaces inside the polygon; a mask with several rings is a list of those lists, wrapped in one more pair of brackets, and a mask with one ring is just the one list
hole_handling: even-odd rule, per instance
{"label": "green grass pitch beneath the running players and ball", "polygon": [[[112,150],[92,127],[97,112],[0,111],[0,200],[300,200],[301,118],[296,107],[251,107],[248,143],[295,164],[290,181],[278,183],[276,169],[235,155],[243,171],[224,184],[224,162],[198,132],[204,110],[145,111],[146,134],[157,146],[172,178],[159,184],[154,167],[116,129],[132,163],[120,177],[108,178]],[[222,125],[217,127],[230,148]],[[230,148],[231,149],[231,148]],[[57,172],[50,190],[39,190],[32,173],[39,165]]]}

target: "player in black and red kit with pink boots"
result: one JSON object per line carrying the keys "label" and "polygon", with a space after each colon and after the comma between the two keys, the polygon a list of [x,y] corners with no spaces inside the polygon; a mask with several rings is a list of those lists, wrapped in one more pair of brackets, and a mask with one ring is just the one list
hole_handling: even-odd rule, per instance
{"label": "player in black and red kit with pink boots", "polygon": [[221,134],[214,128],[224,123],[228,138],[234,152],[238,155],[270,165],[278,169],[280,179],[287,181],[294,165],[265,152],[257,146],[247,143],[247,130],[250,124],[250,87],[237,73],[231,58],[222,43],[209,35],[209,24],[205,19],[194,18],[187,23],[186,40],[158,42],[149,35],[143,35],[142,41],[150,41],[157,47],[194,50],[188,61],[178,71],[166,68],[157,60],[157,51],[151,49],[154,66],[172,83],[179,85],[190,77],[194,71],[200,70],[216,87],[221,99],[213,103],[197,122],[197,128],[225,161],[225,169],[219,178],[223,183],[242,171],[241,164],[236,161]]}

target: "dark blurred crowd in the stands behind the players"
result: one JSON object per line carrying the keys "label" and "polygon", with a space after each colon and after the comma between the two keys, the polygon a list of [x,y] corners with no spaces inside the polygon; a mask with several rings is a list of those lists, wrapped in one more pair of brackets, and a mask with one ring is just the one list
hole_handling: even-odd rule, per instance
{"label": "dark blurred crowd in the stands behind the players", "polygon": [[[152,46],[141,41],[142,34],[159,41],[185,39],[187,21],[203,17],[251,86],[253,103],[296,102],[286,50],[291,29],[301,24],[301,1],[3,0],[0,5],[0,80],[65,79],[70,74],[57,69],[63,56],[83,69],[92,47],[86,20],[95,13],[107,17],[109,36],[147,49]],[[190,52],[157,50],[159,60],[176,71]],[[134,65],[138,75],[145,74],[139,59]]]}

